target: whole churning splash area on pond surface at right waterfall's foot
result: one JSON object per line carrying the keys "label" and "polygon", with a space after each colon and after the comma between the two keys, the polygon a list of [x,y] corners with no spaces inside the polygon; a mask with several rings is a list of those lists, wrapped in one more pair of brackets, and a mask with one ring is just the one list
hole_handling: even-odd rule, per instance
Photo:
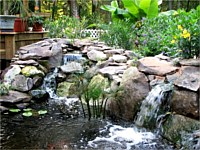
{"label": "whole churning splash area on pond surface at right waterfall's foot", "polygon": [[106,149],[131,150],[159,149],[158,147],[165,147],[164,144],[161,143],[158,146],[158,137],[156,134],[144,129],[139,129],[136,126],[125,128],[108,122],[107,125],[101,129],[100,133],[102,136],[98,136],[94,140],[88,142],[89,148],[101,149],[102,147],[107,147]]}

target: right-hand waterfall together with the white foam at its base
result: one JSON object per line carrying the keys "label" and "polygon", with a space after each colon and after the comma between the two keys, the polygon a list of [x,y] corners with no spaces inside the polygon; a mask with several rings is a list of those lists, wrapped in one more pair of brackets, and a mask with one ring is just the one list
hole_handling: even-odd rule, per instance
{"label": "right-hand waterfall together with the white foam at its base", "polygon": [[107,145],[109,143],[106,147],[111,149],[115,149],[115,147],[127,150],[172,149],[172,146],[160,143],[157,132],[148,132],[144,128],[138,128],[138,126],[141,126],[155,129],[157,118],[160,118],[160,116],[163,116],[162,113],[169,110],[172,89],[173,86],[170,83],[155,86],[142,102],[140,112],[135,119],[136,126],[133,124],[131,127],[124,128],[108,124],[100,131],[102,134],[107,131],[107,134],[89,141],[88,146],[101,148],[102,144]]}

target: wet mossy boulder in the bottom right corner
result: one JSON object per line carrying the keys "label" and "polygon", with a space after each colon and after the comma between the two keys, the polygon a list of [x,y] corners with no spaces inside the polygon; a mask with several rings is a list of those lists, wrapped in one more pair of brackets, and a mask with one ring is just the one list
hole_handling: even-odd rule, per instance
{"label": "wet mossy boulder in the bottom right corner", "polygon": [[178,149],[200,149],[200,141],[195,139],[199,129],[200,122],[197,120],[181,115],[170,115],[162,125],[161,134]]}

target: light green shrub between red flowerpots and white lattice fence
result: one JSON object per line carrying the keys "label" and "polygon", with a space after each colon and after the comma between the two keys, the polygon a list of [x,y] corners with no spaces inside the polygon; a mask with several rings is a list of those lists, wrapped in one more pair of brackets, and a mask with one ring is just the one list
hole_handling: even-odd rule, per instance
{"label": "light green shrub between red flowerpots and white lattice fence", "polygon": [[81,38],[81,30],[84,28],[85,19],[81,21],[77,18],[62,16],[59,19],[45,22],[45,28],[49,30],[48,36],[51,38],[67,37],[70,39]]}

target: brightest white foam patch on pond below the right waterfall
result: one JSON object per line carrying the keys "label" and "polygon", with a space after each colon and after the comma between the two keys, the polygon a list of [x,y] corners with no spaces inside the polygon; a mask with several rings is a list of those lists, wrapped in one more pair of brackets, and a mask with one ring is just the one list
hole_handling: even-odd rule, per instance
{"label": "brightest white foam patch on pond below the right waterfall", "polygon": [[[108,127],[110,126],[110,127]],[[142,132],[137,128],[124,128],[118,125],[107,125],[101,132],[105,132],[105,129],[109,130],[108,135],[104,137],[96,137],[94,140],[88,142],[88,146],[97,148],[98,142],[109,142],[119,145],[126,145],[126,149],[131,149],[131,146],[141,142],[147,142],[155,139],[155,135],[152,132]]]}

